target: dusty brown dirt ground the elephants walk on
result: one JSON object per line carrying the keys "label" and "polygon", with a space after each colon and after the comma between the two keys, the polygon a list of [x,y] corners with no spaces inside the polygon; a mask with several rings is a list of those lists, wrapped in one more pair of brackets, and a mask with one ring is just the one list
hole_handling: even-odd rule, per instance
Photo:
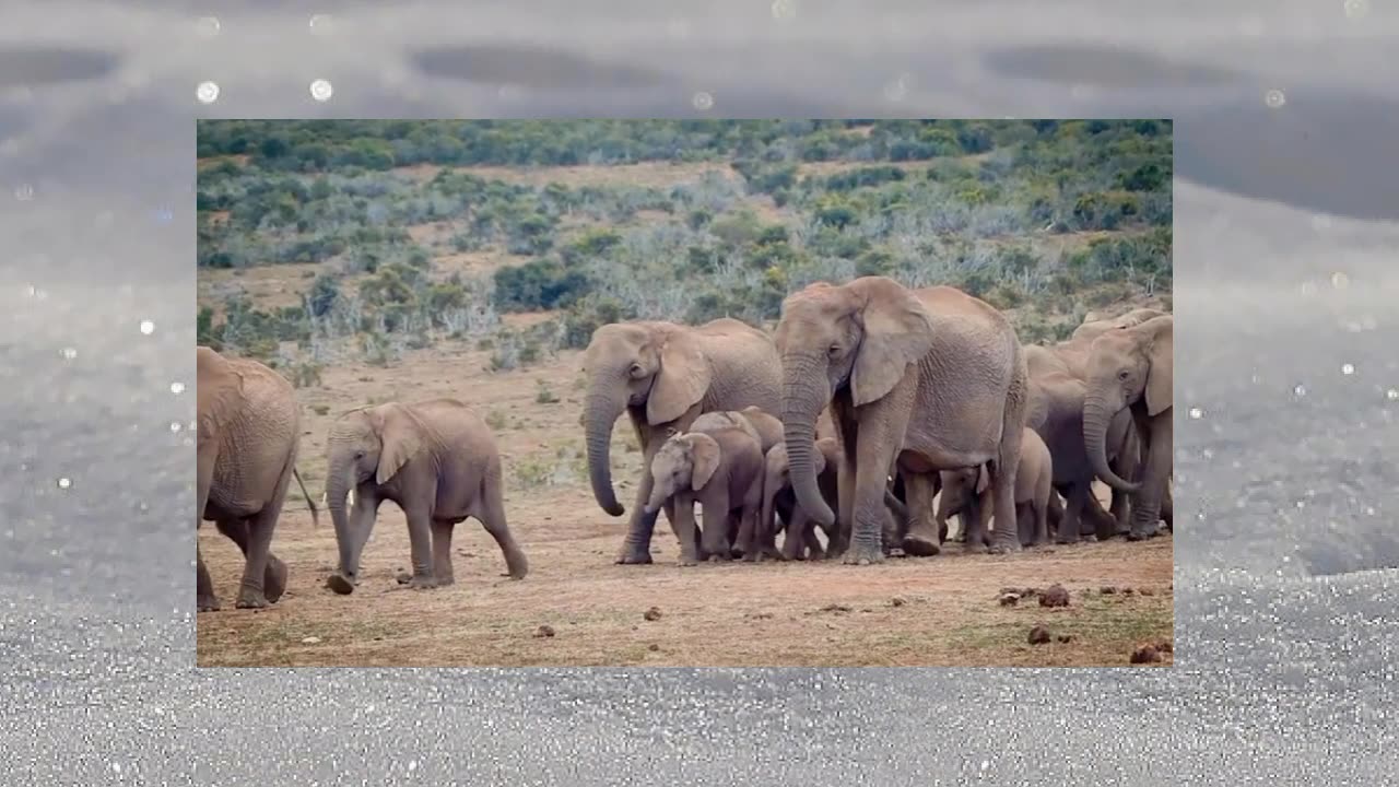
{"label": "dusty brown dirt ground the elephants walk on", "polygon": [[[385,504],[365,548],[364,583],[353,595],[334,595],[323,587],[337,555],[329,514],[313,528],[294,485],[273,541],[290,566],[288,591],[269,609],[234,609],[242,555],[211,524],[200,529],[224,604],[197,618],[200,667],[1128,667],[1137,646],[1174,639],[1168,536],[1011,556],[964,556],[949,545],[937,557],[874,567],[680,569],[662,517],[656,563],[614,566],[625,518],[597,507],[582,472],[578,354],[499,374],[484,371],[488,357],[452,343],[390,368],[326,370],[322,385],[299,391],[298,466],[319,501],[325,434],[337,413],[392,399],[462,399],[495,430],[509,525],[529,556],[529,577],[502,577],[499,549],[469,520],[453,538],[455,585],[400,587],[395,576],[409,566],[407,528]],[[628,508],[639,472],[632,440],[621,422],[614,480]],[[1067,608],[1039,606],[1035,595],[999,604],[1003,588],[1056,583],[1070,592]],[[659,616],[646,615],[652,608]],[[1035,626],[1048,629],[1049,643],[1028,643]],[[1158,665],[1172,662],[1171,653],[1160,655]]]}

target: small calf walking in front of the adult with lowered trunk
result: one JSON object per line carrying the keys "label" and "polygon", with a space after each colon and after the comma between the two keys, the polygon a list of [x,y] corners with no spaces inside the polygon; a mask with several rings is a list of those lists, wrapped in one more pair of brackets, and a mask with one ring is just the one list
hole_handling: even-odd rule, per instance
{"label": "small calf walking in front of the adult with lowered trunk", "polygon": [[[727,560],[730,532],[741,532],[743,522],[755,518],[762,504],[762,452],[739,429],[691,431],[666,440],[651,462],[651,478],[646,513],[673,506],[670,521],[680,541],[681,566],[694,566],[701,557]],[[704,508],[700,550],[695,503]]]}

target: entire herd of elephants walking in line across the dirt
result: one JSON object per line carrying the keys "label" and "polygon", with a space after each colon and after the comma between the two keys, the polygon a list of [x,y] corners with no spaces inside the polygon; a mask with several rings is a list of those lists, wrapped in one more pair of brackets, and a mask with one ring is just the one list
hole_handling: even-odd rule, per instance
{"label": "entire herd of elephants walking in line across the dirt", "polygon": [[[1143,308],[1088,319],[1058,344],[1021,344],[1002,312],[967,293],[866,276],[790,294],[772,333],[730,318],[604,325],[583,354],[582,424],[607,514],[627,513],[610,457],[623,415],[644,458],[617,563],[652,562],[662,511],[683,566],[930,556],[954,515],[968,552],[1150,538],[1171,524],[1172,319]],[[285,588],[270,542],[297,436],[285,379],[199,349],[200,520],[246,556],[241,608]],[[1112,490],[1108,511],[1095,479]],[[460,402],[340,415],[327,440],[340,553],[327,587],[353,592],[385,500],[407,517],[409,584],[452,583],[452,528],[467,517],[523,577],[502,483],[490,429]],[[203,557],[199,608],[218,609]]]}

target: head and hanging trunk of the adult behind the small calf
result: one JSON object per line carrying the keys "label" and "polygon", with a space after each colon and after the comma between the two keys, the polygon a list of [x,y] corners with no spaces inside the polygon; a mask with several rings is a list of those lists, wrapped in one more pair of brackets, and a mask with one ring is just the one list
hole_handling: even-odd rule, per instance
{"label": "head and hanging trunk of the adult behind the small calf", "polygon": [[631,409],[651,426],[670,423],[709,389],[709,361],[684,328],[663,322],[603,325],[583,354],[588,395],[583,423],[593,497],[613,517],[625,513],[611,483],[611,431]]}

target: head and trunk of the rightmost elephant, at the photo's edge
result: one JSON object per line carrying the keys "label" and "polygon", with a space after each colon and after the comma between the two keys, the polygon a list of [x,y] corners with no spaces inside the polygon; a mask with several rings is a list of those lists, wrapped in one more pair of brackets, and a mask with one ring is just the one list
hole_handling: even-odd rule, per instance
{"label": "head and trunk of the rightmost elephant, at the photo's edge", "polygon": [[1108,330],[1093,340],[1083,401],[1083,440],[1093,471],[1108,486],[1137,492],[1139,483],[1108,466],[1107,434],[1112,419],[1139,408],[1149,419],[1171,417],[1174,318],[1151,318],[1132,328]]}

